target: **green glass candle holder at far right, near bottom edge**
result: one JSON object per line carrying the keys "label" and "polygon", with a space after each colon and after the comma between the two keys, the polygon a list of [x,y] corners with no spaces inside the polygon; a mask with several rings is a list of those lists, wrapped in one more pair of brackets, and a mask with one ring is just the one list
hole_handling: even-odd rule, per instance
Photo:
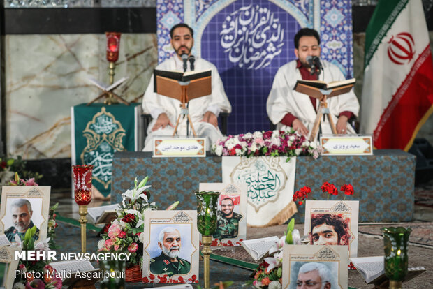
{"label": "green glass candle holder at far right, near bottom edge", "polygon": [[408,243],[411,228],[382,228],[385,249],[385,274],[390,279],[390,289],[402,288],[409,261]]}

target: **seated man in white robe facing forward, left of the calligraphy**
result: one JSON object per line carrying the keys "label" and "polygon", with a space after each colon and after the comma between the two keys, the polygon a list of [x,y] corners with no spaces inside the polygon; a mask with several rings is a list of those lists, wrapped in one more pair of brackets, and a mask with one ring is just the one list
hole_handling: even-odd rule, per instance
{"label": "seated man in white robe facing forward, left of the calligraphy", "polygon": [[[191,50],[194,44],[193,29],[184,23],[175,25],[170,30],[171,45],[175,54],[170,59],[156,66],[163,71],[184,71],[182,54],[191,59]],[[207,137],[207,149],[210,144],[216,142],[223,135],[218,128],[220,112],[231,112],[231,105],[223,88],[223,82],[214,64],[205,59],[196,58],[194,61],[195,71],[211,70],[212,72],[212,94],[195,98],[189,101],[188,112],[193,122],[193,127],[198,136]],[[187,63],[186,71],[191,70],[191,61]],[[162,96],[154,92],[154,76],[151,77],[149,86],[142,100],[142,108],[145,113],[152,116],[152,121],[147,129],[147,138],[143,151],[152,151],[152,140],[156,136],[173,135],[175,124],[181,113],[180,101]],[[187,135],[187,117],[180,117],[177,135]],[[193,135],[191,125],[188,126],[188,134]],[[211,142],[211,143],[210,143]]]}

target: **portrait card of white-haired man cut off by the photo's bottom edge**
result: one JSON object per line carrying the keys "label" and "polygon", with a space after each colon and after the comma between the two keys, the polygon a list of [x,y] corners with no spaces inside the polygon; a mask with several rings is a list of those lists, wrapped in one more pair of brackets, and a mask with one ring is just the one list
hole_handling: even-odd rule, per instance
{"label": "portrait card of white-haired man cut off by the photo's bottom edge", "polygon": [[347,288],[344,246],[284,245],[282,288]]}

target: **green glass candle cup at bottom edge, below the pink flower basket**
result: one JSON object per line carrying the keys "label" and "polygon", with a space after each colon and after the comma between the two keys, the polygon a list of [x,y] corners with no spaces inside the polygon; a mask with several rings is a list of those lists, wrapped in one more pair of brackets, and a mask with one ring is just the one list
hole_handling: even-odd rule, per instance
{"label": "green glass candle cup at bottom edge, below the pink flower basket", "polygon": [[[123,253],[119,251],[110,251],[110,253]],[[99,269],[104,272],[103,279],[99,288],[101,289],[124,289],[125,288],[125,267],[126,260],[110,260],[106,253],[103,260],[99,261]],[[107,253],[108,254],[108,253]]]}

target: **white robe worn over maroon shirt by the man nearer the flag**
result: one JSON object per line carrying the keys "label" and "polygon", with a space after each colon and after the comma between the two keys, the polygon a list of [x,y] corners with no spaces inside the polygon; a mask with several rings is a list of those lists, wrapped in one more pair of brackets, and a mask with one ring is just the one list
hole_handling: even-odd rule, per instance
{"label": "white robe worn over maroon shirt by the man nearer the flag", "polygon": [[[284,66],[281,66],[277,74],[275,74],[272,89],[266,102],[267,116],[273,124],[277,124],[277,129],[286,130],[288,126],[281,124],[281,120],[290,112],[302,121],[302,124],[304,124],[304,126],[308,128],[309,133],[311,133],[314,121],[316,120],[316,112],[307,94],[301,94],[293,90],[296,81],[302,80],[301,73],[299,69],[296,68],[296,65],[296,60],[288,62],[284,64]],[[322,65],[323,71],[321,75],[319,75],[320,80],[328,83],[346,79],[337,66],[323,60]],[[334,124],[337,124],[339,114],[344,111],[353,112],[353,114],[358,117],[360,105],[358,98],[356,98],[355,93],[353,93],[353,89],[347,94],[331,97],[327,102]],[[320,101],[316,101],[316,109],[319,104]],[[322,119],[321,129],[323,134],[332,133],[327,118],[325,122],[323,122]],[[355,133],[350,124],[347,124],[347,131],[348,133]]]}

